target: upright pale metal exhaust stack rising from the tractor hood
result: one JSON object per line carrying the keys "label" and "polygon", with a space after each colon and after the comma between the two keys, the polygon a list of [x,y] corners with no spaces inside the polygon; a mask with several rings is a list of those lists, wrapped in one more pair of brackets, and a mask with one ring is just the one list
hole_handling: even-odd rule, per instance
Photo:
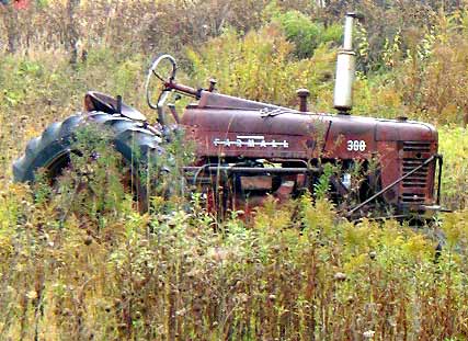
{"label": "upright pale metal exhaust stack rising from the tractor hood", "polygon": [[349,114],[353,107],[353,82],[356,70],[356,54],[353,50],[354,19],[363,19],[356,13],[346,13],[343,47],[338,53],[333,106],[340,114]]}

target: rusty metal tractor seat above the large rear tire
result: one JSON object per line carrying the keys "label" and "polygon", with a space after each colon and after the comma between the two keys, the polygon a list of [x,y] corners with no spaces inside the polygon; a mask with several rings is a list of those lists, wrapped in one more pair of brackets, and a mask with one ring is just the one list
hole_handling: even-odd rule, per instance
{"label": "rusty metal tractor seat above the large rear tire", "polygon": [[[88,112],[101,111],[107,114],[118,114],[117,100],[102,92],[88,91],[84,95],[84,110]],[[122,112],[119,114],[135,121],[147,121],[144,114],[124,102],[122,102]]]}

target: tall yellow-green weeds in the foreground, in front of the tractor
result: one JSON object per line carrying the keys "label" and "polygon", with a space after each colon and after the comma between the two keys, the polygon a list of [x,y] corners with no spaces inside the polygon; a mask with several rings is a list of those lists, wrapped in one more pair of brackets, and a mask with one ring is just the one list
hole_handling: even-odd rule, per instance
{"label": "tall yellow-green weeds in the foreground, in front of the tractor", "polygon": [[[11,339],[305,340],[466,336],[466,212],[447,245],[395,221],[339,218],[308,196],[253,225],[192,203],[100,219],[1,193],[0,327]],[[175,206],[178,207],[178,206]],[[181,206],[179,206],[181,207]],[[292,214],[294,212],[294,214]]]}

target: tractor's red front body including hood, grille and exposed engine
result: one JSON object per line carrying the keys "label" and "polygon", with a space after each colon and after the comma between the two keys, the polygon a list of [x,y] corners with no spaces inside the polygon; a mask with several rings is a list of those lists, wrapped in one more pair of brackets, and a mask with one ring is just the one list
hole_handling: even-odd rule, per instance
{"label": "tractor's red front body including hood, grille and exposed engine", "polygon": [[213,189],[221,175],[214,170],[222,169],[231,208],[256,206],[269,194],[286,200],[313,193],[326,164],[333,166],[331,196],[343,209],[380,191],[359,215],[379,205],[402,215],[435,204],[436,160],[423,164],[437,152],[437,133],[429,124],[303,113],[207,91],[186,109],[181,124],[194,141],[196,167],[207,167],[197,180]]}

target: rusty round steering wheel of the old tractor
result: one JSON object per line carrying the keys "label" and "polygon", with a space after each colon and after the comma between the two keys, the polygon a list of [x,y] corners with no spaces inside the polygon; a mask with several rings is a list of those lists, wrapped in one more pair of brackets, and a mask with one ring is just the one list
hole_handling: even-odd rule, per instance
{"label": "rusty round steering wheel of the old tractor", "polygon": [[[171,64],[172,70],[170,71],[168,77],[164,79],[164,77],[161,77],[158,73],[157,69],[160,66],[160,64],[165,59],[169,60],[169,62]],[[165,100],[168,99],[169,94],[172,92],[172,89],[168,88],[165,83],[172,82],[174,80],[176,70],[178,70],[178,65],[175,62],[174,57],[172,57],[171,55],[162,55],[155,59],[151,67],[149,68],[148,76],[146,78],[146,83],[145,83],[146,101],[149,107],[158,110],[158,109],[161,109],[162,105],[164,105]],[[149,87],[149,82],[153,76],[158,78],[162,83],[158,102],[156,104],[151,101],[151,89]]]}

